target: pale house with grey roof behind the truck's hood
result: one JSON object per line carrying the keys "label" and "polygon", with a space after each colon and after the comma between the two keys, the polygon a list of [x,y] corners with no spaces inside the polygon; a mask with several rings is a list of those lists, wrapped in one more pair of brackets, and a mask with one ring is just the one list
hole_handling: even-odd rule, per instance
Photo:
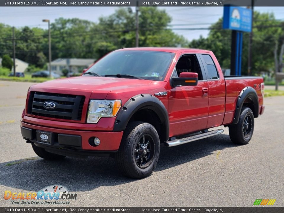
{"label": "pale house with grey roof behind the truck's hood", "polygon": [[[78,73],[88,68],[96,59],[58,58],[51,62],[51,71],[62,75],[62,70]],[[48,64],[49,66],[49,64]]]}

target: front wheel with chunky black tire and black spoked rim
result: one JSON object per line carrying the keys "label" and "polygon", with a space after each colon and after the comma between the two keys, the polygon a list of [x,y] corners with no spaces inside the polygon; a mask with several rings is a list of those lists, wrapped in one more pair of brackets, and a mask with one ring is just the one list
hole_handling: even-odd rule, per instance
{"label": "front wheel with chunky black tire and black spoked rim", "polygon": [[154,126],[135,121],[127,125],[115,158],[123,175],[139,179],[153,172],[159,154],[160,140]]}

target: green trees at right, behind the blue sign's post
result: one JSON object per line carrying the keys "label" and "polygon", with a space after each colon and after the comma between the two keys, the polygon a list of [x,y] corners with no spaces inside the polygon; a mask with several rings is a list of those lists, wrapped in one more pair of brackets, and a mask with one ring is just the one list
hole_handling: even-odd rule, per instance
{"label": "green trees at right, behind the blue sign's post", "polygon": [[[222,29],[222,18],[210,27],[207,38],[200,37],[189,43],[189,47],[212,50],[222,68],[230,68],[231,30]],[[283,34],[281,21],[273,14],[254,12],[252,43],[252,75],[274,69],[274,46]],[[247,75],[249,33],[243,33],[242,75]]]}

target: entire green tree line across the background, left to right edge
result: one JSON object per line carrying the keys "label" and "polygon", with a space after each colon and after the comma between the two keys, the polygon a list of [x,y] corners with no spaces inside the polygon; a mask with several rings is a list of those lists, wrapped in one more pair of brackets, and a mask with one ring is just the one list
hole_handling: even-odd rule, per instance
{"label": "entire green tree line across the background, left to right edge", "polygon": [[[169,29],[171,17],[164,9],[140,7],[139,46],[181,46],[212,50],[222,68],[230,68],[231,30],[222,29],[220,18],[209,29],[207,38],[188,42]],[[252,43],[252,74],[274,70],[275,43],[283,43],[283,22],[273,14],[254,12]],[[78,18],[59,18],[51,23],[52,60],[57,58],[99,59],[122,47],[135,46],[135,12],[119,8],[98,22]],[[12,27],[0,23],[0,57],[12,57]],[[16,57],[36,67],[48,59],[48,30],[42,28],[15,29]],[[243,33],[242,74],[247,73],[249,33]],[[280,51],[280,50],[278,50]]]}

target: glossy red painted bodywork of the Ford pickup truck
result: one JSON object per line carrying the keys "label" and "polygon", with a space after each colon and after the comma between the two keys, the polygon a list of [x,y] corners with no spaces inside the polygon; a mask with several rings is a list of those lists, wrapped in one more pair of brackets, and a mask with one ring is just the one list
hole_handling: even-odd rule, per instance
{"label": "glossy red painted bodywork of the Ford pickup truck", "polygon": [[[117,51],[163,51],[175,53],[163,81],[112,77],[73,77],[33,85],[28,91],[21,126],[36,130],[81,135],[82,149],[118,150],[123,132],[112,132],[116,117],[103,117],[97,124],[86,123],[90,99],[119,99],[122,106],[138,94],[152,94],[167,91],[165,96],[156,96],[164,104],[169,115],[169,136],[183,135],[233,121],[238,95],[243,88],[263,83],[262,78],[225,79],[221,67],[211,51],[183,48],[128,48]],[[209,54],[219,74],[218,79],[202,80],[196,86],[172,87],[170,78],[180,56],[184,54]],[[205,89],[205,90],[204,90]],[[255,88],[259,98],[259,114],[264,112],[261,88]],[[28,99],[31,91],[62,93],[85,96],[82,119],[64,120],[28,114]],[[206,92],[204,92],[206,91]],[[101,144],[89,145],[90,137],[99,137]]]}

